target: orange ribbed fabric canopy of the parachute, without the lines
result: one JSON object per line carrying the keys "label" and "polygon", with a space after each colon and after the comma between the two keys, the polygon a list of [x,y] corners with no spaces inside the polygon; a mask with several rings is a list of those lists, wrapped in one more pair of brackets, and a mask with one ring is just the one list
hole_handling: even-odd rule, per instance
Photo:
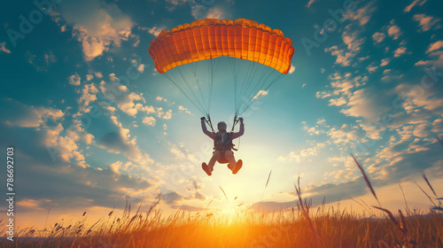
{"label": "orange ribbed fabric canopy of the parachute, without the lines", "polygon": [[291,68],[291,39],[251,19],[198,19],[163,30],[152,40],[149,54],[160,74],[209,58],[228,56],[258,62],[281,74]]}

